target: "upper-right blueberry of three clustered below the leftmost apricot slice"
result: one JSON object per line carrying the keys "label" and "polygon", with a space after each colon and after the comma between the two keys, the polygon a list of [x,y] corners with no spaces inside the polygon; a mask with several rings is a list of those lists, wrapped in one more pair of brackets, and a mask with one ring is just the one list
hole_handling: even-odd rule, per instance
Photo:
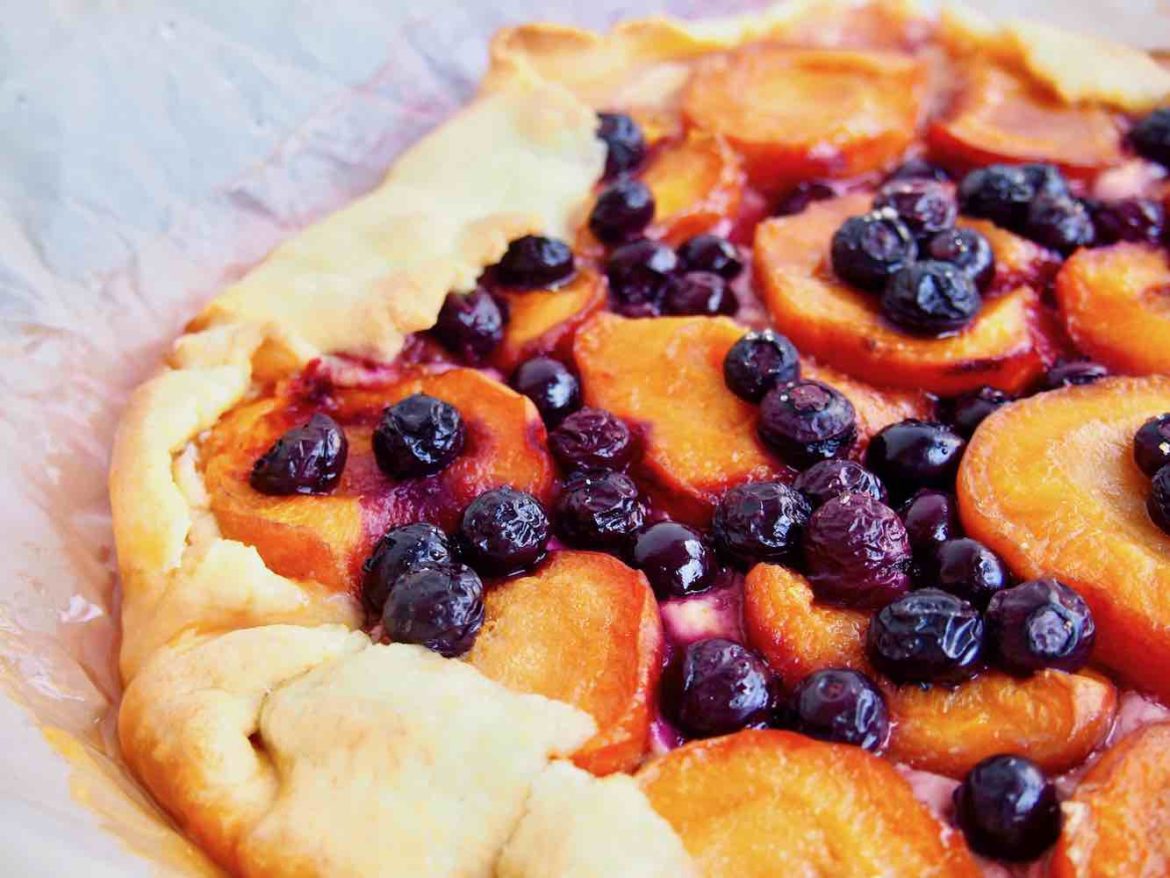
{"label": "upper-right blueberry of three clustered below the leftmost apricot slice", "polygon": [[460,536],[468,561],[489,576],[525,570],[544,558],[549,516],[531,494],[494,488],[463,510]]}

